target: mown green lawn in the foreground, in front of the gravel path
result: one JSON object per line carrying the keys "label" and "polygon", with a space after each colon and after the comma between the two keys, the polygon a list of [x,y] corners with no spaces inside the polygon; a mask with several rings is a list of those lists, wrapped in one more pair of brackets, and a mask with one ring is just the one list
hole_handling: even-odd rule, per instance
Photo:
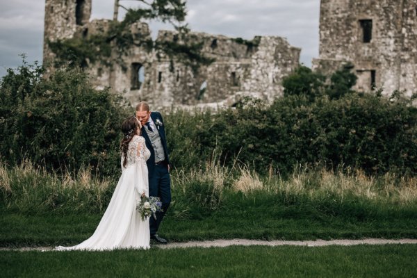
{"label": "mown green lawn in the foreground, in front of the gravel path", "polygon": [[416,277],[417,245],[0,252],[2,277]]}

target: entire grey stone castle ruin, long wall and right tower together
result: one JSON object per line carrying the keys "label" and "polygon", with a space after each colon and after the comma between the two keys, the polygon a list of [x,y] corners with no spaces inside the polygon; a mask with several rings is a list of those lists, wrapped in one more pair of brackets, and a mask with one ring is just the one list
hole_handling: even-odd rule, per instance
{"label": "entire grey stone castle ruin, long wall and right tower together", "polygon": [[[44,62],[54,60],[48,42],[104,34],[111,21],[90,22],[92,0],[46,0]],[[319,58],[313,70],[329,74],[350,62],[358,76],[356,90],[383,88],[407,95],[417,92],[416,0],[321,0]],[[152,40],[149,26],[129,26],[133,41]],[[174,31],[159,31],[157,41],[176,40]],[[299,65],[300,51],[284,38],[255,37],[250,43],[223,35],[190,33],[203,44],[211,65],[193,71],[180,60],[138,43],[119,49],[109,42],[111,56],[88,63],[86,71],[97,88],[110,87],[136,104],[154,107],[224,102],[254,95],[271,100],[282,95],[281,80]]]}

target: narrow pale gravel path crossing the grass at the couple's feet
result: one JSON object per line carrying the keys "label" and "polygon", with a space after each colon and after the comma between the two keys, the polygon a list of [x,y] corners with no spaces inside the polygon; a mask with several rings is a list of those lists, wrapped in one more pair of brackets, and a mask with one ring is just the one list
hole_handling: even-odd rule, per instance
{"label": "narrow pale gravel path crossing the grass at the couple's feet", "polygon": [[[248,240],[248,239],[231,239],[231,240],[206,240],[206,241],[189,241],[186,243],[168,243],[167,245],[152,245],[152,247],[159,247],[161,249],[169,248],[187,248],[187,247],[227,247],[231,245],[266,245],[266,246],[283,246],[283,245],[297,245],[308,247],[320,247],[329,245],[382,245],[382,244],[417,244],[417,239],[381,239],[381,238],[366,238],[359,240],[350,239],[336,239],[336,240]],[[0,247],[0,251],[51,251],[54,247],[20,247],[20,248],[6,248]]]}

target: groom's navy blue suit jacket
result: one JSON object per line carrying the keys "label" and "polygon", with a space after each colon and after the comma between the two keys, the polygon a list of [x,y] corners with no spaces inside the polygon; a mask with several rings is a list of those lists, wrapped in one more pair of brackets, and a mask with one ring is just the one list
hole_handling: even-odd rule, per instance
{"label": "groom's navy blue suit jacket", "polygon": [[[158,130],[159,136],[161,136],[161,142],[163,146],[163,152],[165,154],[165,161],[170,164],[170,157],[168,156],[168,148],[167,148],[167,136],[165,135],[165,124],[163,123],[163,118],[161,113],[159,112],[151,112],[151,118],[154,121],[155,127]],[[159,119],[159,121],[162,123],[161,125],[156,124],[156,119]],[[154,148],[152,147],[152,142],[149,139],[149,136],[147,135],[145,131],[145,126],[142,126],[142,136],[145,138],[146,147],[151,152],[151,156],[147,160],[146,164],[148,167],[149,175],[151,175],[154,172],[155,167],[155,152]]]}

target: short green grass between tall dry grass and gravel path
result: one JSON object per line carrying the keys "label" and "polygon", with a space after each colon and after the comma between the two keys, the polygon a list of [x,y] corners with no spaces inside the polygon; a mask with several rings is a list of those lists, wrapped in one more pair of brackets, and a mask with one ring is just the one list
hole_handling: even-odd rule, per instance
{"label": "short green grass between tall dry grass and gravel path", "polygon": [[[160,235],[170,241],[215,238],[332,239],[417,238],[416,210],[366,204],[326,204],[296,200],[286,204],[274,195],[224,196],[227,205],[215,211],[189,207],[178,213],[173,204]],[[360,209],[359,209],[360,208]],[[101,213],[2,213],[0,246],[73,245],[88,238]]]}

